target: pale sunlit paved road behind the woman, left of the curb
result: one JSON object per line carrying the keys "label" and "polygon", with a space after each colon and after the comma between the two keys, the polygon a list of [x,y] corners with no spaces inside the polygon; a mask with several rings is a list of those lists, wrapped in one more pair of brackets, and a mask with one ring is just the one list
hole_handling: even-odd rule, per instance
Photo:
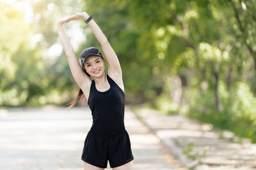
{"label": "pale sunlit paved road behind the woman, left of the curb", "polygon": [[[87,107],[0,110],[0,169],[83,170],[81,153],[91,125]],[[125,127],[134,169],[185,169],[129,108]]]}

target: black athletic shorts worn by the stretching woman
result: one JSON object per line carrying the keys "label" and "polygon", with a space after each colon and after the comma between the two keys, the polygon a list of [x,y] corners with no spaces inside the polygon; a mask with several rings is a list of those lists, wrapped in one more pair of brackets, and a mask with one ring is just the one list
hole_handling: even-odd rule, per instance
{"label": "black athletic shorts worn by the stretching woman", "polygon": [[129,134],[125,129],[99,133],[90,130],[84,140],[81,159],[93,166],[118,167],[133,160]]}

